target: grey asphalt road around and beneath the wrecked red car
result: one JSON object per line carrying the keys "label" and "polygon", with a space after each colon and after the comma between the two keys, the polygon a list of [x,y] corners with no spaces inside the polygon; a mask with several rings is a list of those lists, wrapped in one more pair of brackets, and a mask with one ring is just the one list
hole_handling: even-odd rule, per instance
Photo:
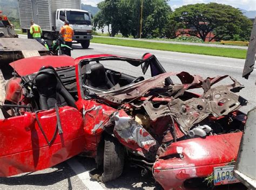
{"label": "grey asphalt road around and beneath the wrecked red car", "polygon": [[[144,53],[150,52],[157,56],[167,72],[186,71],[191,74],[199,74],[204,78],[228,74],[245,86],[240,95],[249,102],[247,107],[242,108],[242,111],[248,111],[256,105],[254,100],[256,72],[251,74],[249,80],[241,78],[245,60],[101,44],[91,44],[88,50],[83,50],[80,45],[73,45],[73,48],[72,57],[74,58],[81,55],[102,53],[140,58]],[[142,75],[140,68],[134,68],[128,64],[121,65],[118,62],[108,62],[107,67],[135,76]],[[224,83],[231,82],[231,80],[224,81]],[[139,168],[125,167],[120,178],[102,184],[90,179],[89,170],[93,167],[96,167],[93,159],[77,156],[43,171],[0,178],[0,189],[158,189],[154,186],[153,179],[148,176],[140,176]]]}

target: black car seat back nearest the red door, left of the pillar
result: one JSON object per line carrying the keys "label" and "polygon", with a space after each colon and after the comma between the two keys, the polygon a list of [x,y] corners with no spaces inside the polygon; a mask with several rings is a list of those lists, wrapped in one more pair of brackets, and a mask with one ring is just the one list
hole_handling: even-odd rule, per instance
{"label": "black car seat back nearest the red door, left of the pillar", "polygon": [[52,109],[56,103],[77,108],[75,99],[66,90],[53,68],[44,68],[39,71],[35,77],[35,86],[38,90],[41,109]]}

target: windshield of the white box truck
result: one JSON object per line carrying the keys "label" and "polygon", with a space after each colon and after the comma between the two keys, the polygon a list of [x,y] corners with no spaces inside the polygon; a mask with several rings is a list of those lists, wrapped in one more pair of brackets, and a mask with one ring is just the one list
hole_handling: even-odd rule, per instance
{"label": "windshield of the white box truck", "polygon": [[91,19],[87,12],[66,11],[66,17],[70,24],[91,25]]}

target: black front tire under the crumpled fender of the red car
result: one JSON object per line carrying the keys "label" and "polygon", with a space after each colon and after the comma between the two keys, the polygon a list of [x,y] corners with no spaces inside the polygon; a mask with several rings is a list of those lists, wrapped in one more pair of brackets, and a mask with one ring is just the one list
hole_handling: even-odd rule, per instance
{"label": "black front tire under the crumpled fender of the red car", "polygon": [[124,168],[124,154],[125,149],[116,138],[110,135],[105,136],[103,182],[114,180],[122,174]]}

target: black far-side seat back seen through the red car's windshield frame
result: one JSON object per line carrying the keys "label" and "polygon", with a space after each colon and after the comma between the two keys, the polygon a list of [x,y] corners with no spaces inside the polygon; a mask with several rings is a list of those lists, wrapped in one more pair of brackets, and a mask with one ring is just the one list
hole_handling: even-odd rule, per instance
{"label": "black far-side seat back seen through the red car's windshield frame", "polygon": [[108,90],[114,85],[106,75],[102,64],[95,63],[90,65],[91,73],[87,74],[85,84],[89,87]]}

